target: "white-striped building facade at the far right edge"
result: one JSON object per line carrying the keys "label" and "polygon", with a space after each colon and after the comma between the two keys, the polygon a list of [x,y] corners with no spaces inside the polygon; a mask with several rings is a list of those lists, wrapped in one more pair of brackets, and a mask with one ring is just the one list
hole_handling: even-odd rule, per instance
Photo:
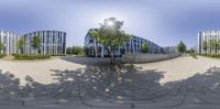
{"label": "white-striped building facade at the far right edge", "polygon": [[[212,41],[220,41],[220,31],[202,31],[198,33],[198,53],[220,53],[215,47],[208,47]],[[205,45],[206,44],[206,45]],[[206,48],[206,47],[207,48]]]}

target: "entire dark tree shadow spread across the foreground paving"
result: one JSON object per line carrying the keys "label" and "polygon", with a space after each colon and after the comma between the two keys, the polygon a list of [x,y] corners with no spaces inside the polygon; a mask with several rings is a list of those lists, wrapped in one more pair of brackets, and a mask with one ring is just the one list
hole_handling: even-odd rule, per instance
{"label": "entire dark tree shadow spread across the foreground paving", "polygon": [[26,76],[25,86],[0,72],[0,106],[78,106],[94,108],[172,108],[220,106],[220,68],[190,78],[160,84],[164,72],[134,65],[86,66],[56,70],[54,83],[42,85]]}

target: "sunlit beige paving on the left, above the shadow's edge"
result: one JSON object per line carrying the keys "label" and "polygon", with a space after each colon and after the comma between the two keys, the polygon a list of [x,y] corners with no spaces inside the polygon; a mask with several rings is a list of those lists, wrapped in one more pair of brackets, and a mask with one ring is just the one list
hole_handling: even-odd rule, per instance
{"label": "sunlit beige paving on the left, above the shadow's edge", "polygon": [[53,58],[45,61],[4,61],[0,59],[0,69],[6,73],[13,74],[16,78],[20,78],[21,85],[25,85],[25,77],[30,76],[35,81],[41,84],[52,84],[53,70],[74,70],[84,67],[84,65],[69,63],[64,59]]}

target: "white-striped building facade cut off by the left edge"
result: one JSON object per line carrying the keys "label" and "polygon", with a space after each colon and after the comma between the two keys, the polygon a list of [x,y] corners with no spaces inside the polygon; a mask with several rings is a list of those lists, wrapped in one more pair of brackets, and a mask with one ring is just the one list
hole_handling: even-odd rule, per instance
{"label": "white-striped building facade cut off by the left edge", "polygon": [[0,53],[4,53],[8,55],[16,53],[18,40],[19,40],[19,35],[15,34],[14,32],[0,30],[0,43],[3,45],[3,48],[0,51]]}

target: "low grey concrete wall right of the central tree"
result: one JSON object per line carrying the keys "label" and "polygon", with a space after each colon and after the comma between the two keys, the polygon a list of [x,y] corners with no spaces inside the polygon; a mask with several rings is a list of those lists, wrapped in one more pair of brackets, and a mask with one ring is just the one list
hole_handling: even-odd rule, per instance
{"label": "low grey concrete wall right of the central tree", "polygon": [[148,63],[164,59],[170,59],[180,56],[180,54],[125,54],[122,55],[124,63]]}

